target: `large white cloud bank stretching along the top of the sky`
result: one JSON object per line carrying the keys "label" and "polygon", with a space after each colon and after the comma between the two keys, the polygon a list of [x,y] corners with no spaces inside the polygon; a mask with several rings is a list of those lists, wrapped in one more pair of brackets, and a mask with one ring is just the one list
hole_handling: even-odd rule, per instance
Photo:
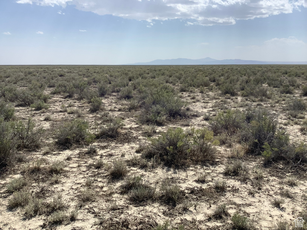
{"label": "large white cloud bank stretching along the top of the sky", "polygon": [[99,15],[148,22],[183,19],[199,25],[233,25],[239,19],[292,13],[307,7],[307,0],[20,0],[17,3],[62,7],[69,4]]}

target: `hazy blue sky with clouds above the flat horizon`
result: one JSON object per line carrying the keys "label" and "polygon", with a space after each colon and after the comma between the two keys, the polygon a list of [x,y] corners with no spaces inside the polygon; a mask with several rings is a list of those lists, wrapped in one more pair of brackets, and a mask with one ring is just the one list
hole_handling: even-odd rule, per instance
{"label": "hazy blue sky with clouds above the flat horizon", "polygon": [[307,0],[0,0],[0,65],[307,61]]}

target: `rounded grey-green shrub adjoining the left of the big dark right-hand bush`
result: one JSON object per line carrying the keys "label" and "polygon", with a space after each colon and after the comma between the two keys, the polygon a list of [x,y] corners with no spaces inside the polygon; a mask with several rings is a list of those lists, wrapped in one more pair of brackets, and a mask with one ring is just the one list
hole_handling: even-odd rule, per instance
{"label": "rounded grey-green shrub adjoining the left of the big dark right-hand bush", "polygon": [[227,132],[228,135],[233,135],[240,129],[245,128],[244,120],[244,114],[241,111],[228,109],[226,113],[219,113],[209,121],[209,124],[214,135],[224,132]]}

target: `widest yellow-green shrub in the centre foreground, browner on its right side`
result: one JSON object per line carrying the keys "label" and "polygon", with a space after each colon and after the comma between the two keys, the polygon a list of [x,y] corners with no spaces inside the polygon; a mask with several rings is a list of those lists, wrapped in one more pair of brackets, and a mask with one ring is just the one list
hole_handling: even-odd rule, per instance
{"label": "widest yellow-green shrub in the centre foreground, browner on its right side", "polygon": [[206,128],[184,132],[182,128],[169,128],[142,152],[144,158],[157,158],[167,165],[184,166],[190,162],[214,159],[213,132]]}

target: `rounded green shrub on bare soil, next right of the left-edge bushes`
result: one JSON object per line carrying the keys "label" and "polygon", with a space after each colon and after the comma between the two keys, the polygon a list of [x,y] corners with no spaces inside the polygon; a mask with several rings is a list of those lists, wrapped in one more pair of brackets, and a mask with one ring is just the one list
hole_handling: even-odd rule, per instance
{"label": "rounded green shrub on bare soil, next right of the left-edge bushes", "polygon": [[89,143],[94,138],[87,131],[88,124],[82,119],[76,119],[60,125],[56,131],[56,144],[63,148],[70,148],[74,144]]}

